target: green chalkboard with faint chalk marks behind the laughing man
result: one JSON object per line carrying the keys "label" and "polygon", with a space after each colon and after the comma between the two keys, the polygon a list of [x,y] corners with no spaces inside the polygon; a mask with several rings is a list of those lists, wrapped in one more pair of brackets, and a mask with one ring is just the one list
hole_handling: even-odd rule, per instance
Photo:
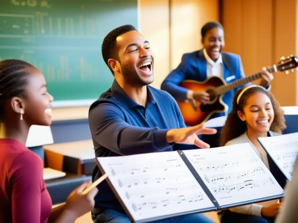
{"label": "green chalkboard with faint chalk marks behind the laughing man", "polygon": [[1,0],[0,60],[41,70],[53,106],[87,105],[114,80],[101,44],[124,24],[138,29],[137,0]]}

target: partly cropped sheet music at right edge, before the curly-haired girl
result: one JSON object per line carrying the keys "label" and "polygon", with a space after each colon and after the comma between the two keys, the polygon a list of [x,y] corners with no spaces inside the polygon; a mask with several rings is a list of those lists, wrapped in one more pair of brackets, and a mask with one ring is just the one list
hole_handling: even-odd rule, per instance
{"label": "partly cropped sheet music at right edge, before the curly-haired girl", "polygon": [[280,136],[260,137],[258,141],[288,180],[298,155],[298,133]]}

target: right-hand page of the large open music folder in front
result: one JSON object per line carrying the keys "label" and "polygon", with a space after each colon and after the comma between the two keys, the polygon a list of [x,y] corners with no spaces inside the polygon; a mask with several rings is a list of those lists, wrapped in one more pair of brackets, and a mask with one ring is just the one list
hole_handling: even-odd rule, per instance
{"label": "right-hand page of the large open music folder in front", "polygon": [[283,194],[249,143],[183,152],[221,206]]}

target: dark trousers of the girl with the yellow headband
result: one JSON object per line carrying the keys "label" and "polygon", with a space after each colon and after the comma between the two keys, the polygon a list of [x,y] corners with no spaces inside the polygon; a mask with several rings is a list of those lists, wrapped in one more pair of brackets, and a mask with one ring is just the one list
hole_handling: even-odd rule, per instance
{"label": "dark trousers of the girl with the yellow headband", "polygon": [[274,223],[274,219],[273,217],[262,218],[226,210],[221,217],[221,223]]}

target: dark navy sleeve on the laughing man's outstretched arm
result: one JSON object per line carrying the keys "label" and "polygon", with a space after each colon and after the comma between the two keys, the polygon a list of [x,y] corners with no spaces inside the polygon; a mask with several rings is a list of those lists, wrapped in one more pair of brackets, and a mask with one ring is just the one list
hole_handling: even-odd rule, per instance
{"label": "dark navy sleeve on the laughing man's outstretched arm", "polygon": [[123,112],[110,103],[89,111],[89,126],[93,140],[120,155],[159,152],[173,146],[166,139],[169,129],[130,125]]}

